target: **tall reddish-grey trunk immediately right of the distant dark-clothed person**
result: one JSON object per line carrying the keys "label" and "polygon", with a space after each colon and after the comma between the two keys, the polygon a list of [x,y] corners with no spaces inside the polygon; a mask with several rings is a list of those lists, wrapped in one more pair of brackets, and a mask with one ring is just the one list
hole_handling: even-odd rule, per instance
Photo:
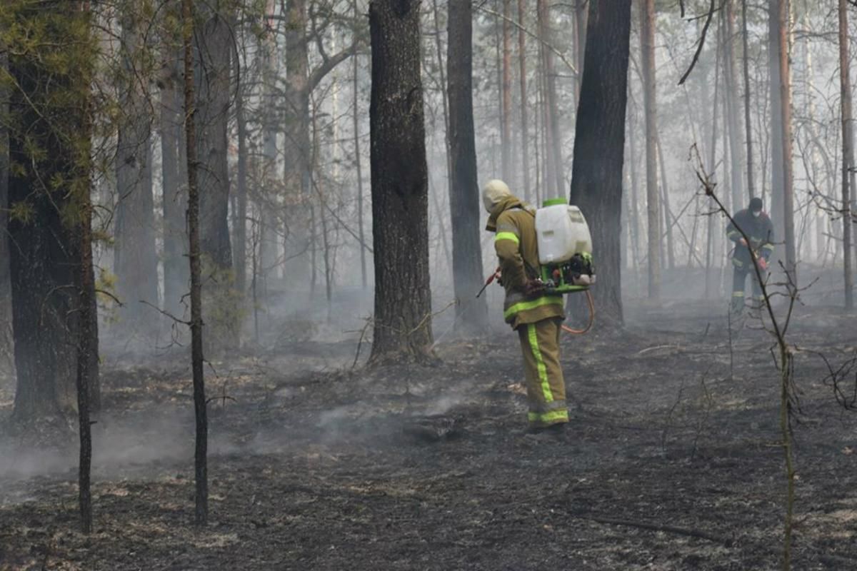
{"label": "tall reddish-grey trunk immediately right of the distant dark-clothed person", "polygon": [[[785,241],[786,249],[786,272],[789,279],[796,286],[798,284],[797,265],[794,255],[794,173],[792,167],[792,104],[791,104],[791,80],[789,79],[788,63],[788,3],[787,0],[770,0],[770,16],[774,20],[776,28],[776,67],[778,70],[776,85],[780,104],[771,105],[771,109],[779,111],[779,116],[772,115],[771,122],[780,123],[780,166],[782,168],[782,187],[779,191],[782,196],[782,211],[774,212],[774,221],[782,217],[782,239]],[[773,77],[773,76],[772,76]],[[776,162],[774,163],[776,165]],[[775,166],[776,170],[776,166]],[[776,185],[774,191],[776,193]],[[776,235],[779,240],[780,235]]]}

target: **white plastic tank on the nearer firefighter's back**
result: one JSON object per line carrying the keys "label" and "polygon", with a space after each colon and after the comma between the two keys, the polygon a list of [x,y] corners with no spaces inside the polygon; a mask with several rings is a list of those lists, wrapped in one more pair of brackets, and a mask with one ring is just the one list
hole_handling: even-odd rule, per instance
{"label": "white plastic tank on the nearer firefighter's back", "polygon": [[565,199],[545,200],[536,211],[540,264],[559,264],[576,253],[592,253],[592,238],[583,212]]}

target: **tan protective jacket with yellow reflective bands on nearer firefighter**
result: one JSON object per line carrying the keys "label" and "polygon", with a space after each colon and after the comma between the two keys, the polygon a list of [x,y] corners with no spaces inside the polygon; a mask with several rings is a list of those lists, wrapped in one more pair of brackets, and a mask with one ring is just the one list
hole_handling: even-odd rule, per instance
{"label": "tan protective jacket with yellow reflective bands on nearer firefighter", "polygon": [[494,251],[500,259],[506,301],[503,317],[512,329],[542,319],[565,318],[562,295],[527,297],[524,286],[528,279],[538,277],[538,244],[536,242],[536,211],[511,196],[501,200],[488,217],[489,232],[495,232]]}

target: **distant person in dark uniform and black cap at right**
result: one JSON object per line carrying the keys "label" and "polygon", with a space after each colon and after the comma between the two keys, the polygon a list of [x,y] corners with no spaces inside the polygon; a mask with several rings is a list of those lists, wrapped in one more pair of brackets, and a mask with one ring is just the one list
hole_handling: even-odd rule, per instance
{"label": "distant person in dark uniform and black cap at right", "polygon": [[[756,271],[753,268],[753,257],[750,253],[752,249],[762,278],[765,279],[768,275],[770,254],[774,252],[774,225],[770,222],[770,217],[762,211],[762,206],[762,199],[751,199],[750,206],[735,214],[734,223],[730,222],[726,229],[728,239],[735,244],[732,251],[732,265],[734,266],[732,311],[736,314],[744,311],[744,287],[747,274],[752,277],[753,303],[761,306],[764,301],[762,286],[758,282]],[[739,228],[750,239],[749,244],[741,235]]]}

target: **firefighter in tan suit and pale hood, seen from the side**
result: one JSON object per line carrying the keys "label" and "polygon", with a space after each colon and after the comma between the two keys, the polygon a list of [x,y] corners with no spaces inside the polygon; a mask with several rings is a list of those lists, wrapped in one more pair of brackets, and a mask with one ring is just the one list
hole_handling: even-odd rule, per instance
{"label": "firefighter in tan suit and pale hood, seen from the side", "polygon": [[560,366],[560,329],[566,317],[561,295],[548,295],[538,279],[536,211],[516,198],[503,181],[482,189],[486,230],[506,289],[503,317],[518,331],[524,354],[530,432],[562,439],[568,422],[566,384]]}

